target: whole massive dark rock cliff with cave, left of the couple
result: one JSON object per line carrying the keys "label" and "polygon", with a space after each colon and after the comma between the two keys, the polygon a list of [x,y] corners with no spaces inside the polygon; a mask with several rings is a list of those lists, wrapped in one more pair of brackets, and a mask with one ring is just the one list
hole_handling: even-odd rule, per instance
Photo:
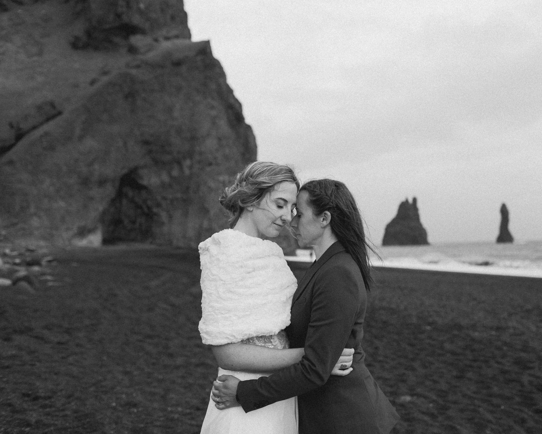
{"label": "whole massive dark rock cliff with cave, left of the couple", "polygon": [[194,247],[226,227],[256,143],[182,0],[28,3],[0,5],[4,237]]}

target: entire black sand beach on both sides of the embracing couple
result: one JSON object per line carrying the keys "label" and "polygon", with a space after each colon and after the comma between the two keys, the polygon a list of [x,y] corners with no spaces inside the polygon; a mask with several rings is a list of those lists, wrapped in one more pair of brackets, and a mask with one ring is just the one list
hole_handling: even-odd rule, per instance
{"label": "entire black sand beach on both sides of the embracing couple", "polygon": [[[197,252],[52,254],[54,285],[0,288],[0,432],[199,432],[216,363]],[[374,276],[364,347],[402,417],[393,433],[540,432],[542,279]]]}

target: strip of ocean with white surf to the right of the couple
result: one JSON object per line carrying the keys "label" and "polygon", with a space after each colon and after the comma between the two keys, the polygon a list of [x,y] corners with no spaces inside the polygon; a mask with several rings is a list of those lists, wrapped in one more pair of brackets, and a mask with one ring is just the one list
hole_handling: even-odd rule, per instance
{"label": "strip of ocean with white surf to the right of the couple", "polygon": [[[374,266],[542,278],[542,241],[376,247]],[[541,284],[542,289],[542,284]]]}

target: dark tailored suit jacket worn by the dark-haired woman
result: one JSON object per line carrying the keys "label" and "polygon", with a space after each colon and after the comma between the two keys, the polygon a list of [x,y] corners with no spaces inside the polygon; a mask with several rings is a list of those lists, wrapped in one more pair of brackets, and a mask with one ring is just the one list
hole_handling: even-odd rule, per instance
{"label": "dark tailored suit jacket worn by the dark-haired woman", "polygon": [[[385,434],[399,416],[364,364],[361,342],[367,295],[356,262],[335,242],[301,279],[286,328],[303,359],[268,377],[241,381],[245,412],[298,396],[300,434]],[[344,348],[354,348],[353,371],[330,376]]]}

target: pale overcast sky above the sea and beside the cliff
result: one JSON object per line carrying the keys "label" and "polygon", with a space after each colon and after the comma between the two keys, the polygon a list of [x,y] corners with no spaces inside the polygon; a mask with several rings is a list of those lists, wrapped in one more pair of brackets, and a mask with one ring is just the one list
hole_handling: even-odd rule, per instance
{"label": "pale overcast sky above the sea and beside the cliff", "polygon": [[542,240],[542,2],[185,0],[258,159],[356,196],[380,245],[416,196],[430,242]]}

